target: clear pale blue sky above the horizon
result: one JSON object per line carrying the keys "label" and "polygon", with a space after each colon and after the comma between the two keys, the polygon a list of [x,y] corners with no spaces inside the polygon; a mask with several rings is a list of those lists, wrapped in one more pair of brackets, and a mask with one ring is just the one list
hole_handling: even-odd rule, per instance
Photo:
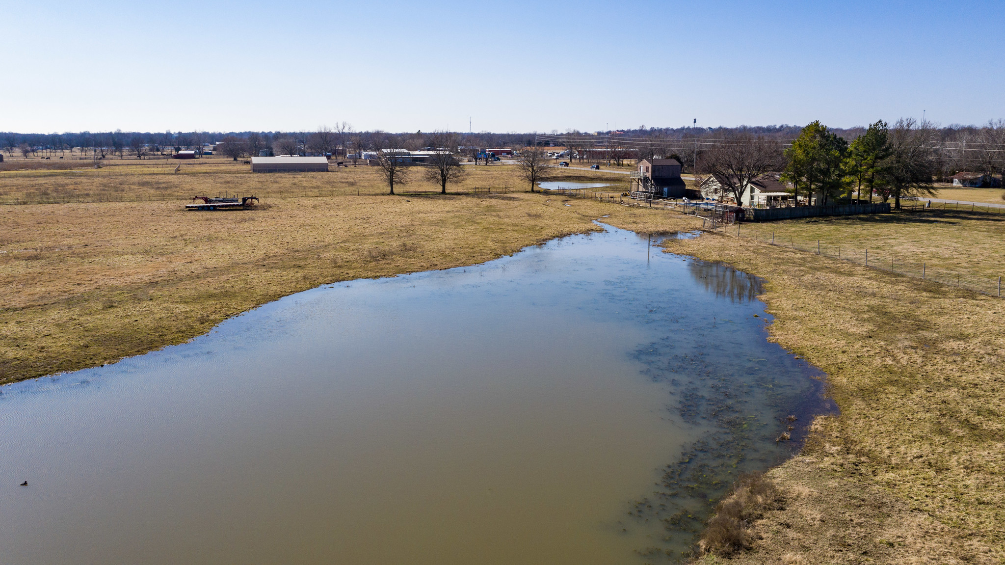
{"label": "clear pale blue sky above the horizon", "polygon": [[0,131],[1005,118],[1005,2],[0,2]]}

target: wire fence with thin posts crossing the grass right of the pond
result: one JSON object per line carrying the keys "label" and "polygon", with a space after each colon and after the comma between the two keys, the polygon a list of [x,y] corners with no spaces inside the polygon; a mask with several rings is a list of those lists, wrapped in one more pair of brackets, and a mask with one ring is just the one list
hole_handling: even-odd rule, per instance
{"label": "wire fence with thin posts crossing the grass right of the pond", "polygon": [[848,245],[835,245],[823,240],[796,239],[789,235],[780,235],[774,230],[756,229],[749,226],[737,225],[735,228],[725,228],[719,230],[721,233],[736,235],[737,237],[750,238],[755,241],[788,247],[799,251],[816,253],[825,257],[841,259],[858,263],[869,268],[877,268],[888,272],[895,272],[904,276],[914,276],[923,280],[931,280],[951,287],[966,289],[974,293],[990,295],[993,297],[1002,296],[1002,277],[987,276],[974,273],[972,271],[956,268],[946,268],[931,265],[928,261],[904,260],[900,257],[882,256],[874,250],[858,248]]}

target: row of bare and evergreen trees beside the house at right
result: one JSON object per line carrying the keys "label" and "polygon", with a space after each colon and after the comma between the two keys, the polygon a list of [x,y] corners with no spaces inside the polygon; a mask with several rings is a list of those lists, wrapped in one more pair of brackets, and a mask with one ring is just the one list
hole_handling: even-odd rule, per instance
{"label": "row of bare and evergreen trees beside the house at right", "polygon": [[899,208],[901,199],[933,195],[940,168],[1005,173],[1005,122],[990,123],[976,134],[968,142],[945,143],[932,123],[911,118],[892,125],[874,122],[850,143],[820,122],[787,143],[740,129],[702,150],[697,169],[713,175],[738,203],[754,181],[780,172],[796,205],[813,197],[823,205],[877,198],[892,199]]}

